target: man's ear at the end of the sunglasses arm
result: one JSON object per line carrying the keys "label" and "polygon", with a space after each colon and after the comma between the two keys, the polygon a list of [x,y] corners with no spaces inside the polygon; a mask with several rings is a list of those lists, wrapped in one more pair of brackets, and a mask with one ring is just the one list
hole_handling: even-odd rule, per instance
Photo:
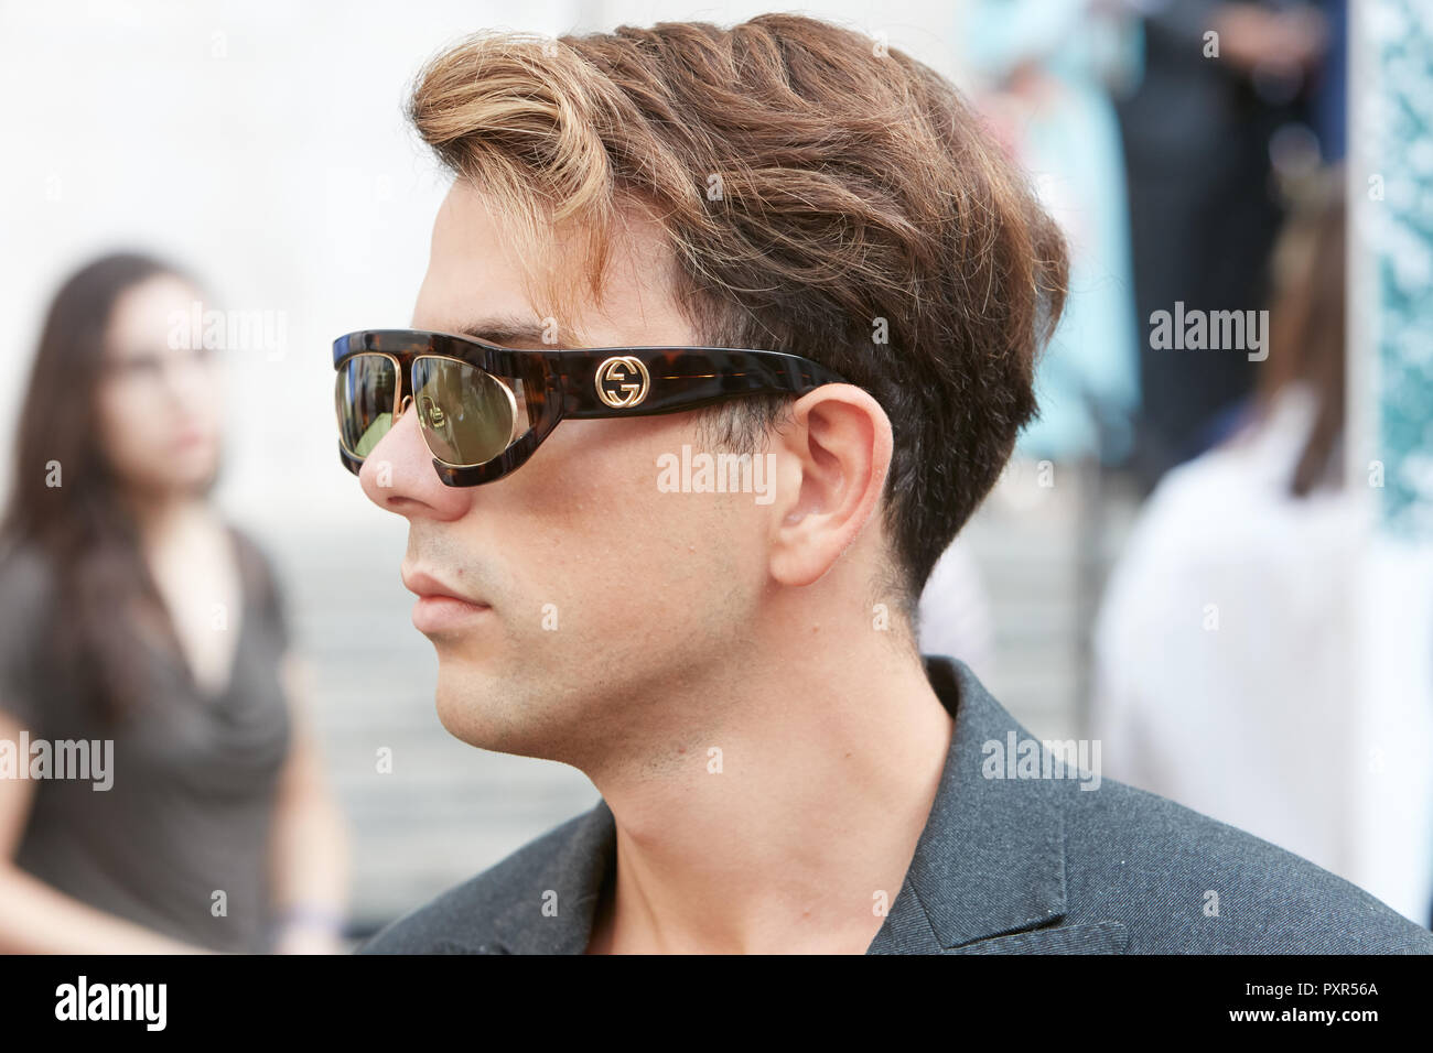
{"label": "man's ear at the end of the sunglasses arm", "polygon": [[772,440],[781,471],[771,517],[771,576],[811,585],[857,539],[880,506],[891,463],[891,423],[854,384],[824,384],[791,407]]}

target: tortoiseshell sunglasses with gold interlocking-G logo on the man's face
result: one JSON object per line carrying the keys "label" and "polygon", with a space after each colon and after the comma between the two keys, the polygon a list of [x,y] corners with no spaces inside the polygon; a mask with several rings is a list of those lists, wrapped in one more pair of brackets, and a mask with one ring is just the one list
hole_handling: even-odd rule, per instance
{"label": "tortoiseshell sunglasses with gold interlocking-G logo on the man's face", "polygon": [[679,413],[741,395],[800,395],[847,383],[784,351],[523,351],[426,330],[350,332],[334,341],[334,368],[344,467],[358,474],[411,401],[447,486],[479,486],[514,471],[563,420]]}

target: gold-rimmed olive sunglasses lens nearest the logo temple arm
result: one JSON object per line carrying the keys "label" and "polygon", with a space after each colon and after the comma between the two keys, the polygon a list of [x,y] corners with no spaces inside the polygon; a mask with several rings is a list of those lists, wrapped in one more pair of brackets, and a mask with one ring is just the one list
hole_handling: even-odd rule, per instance
{"label": "gold-rimmed olive sunglasses lens nearest the logo temple arm", "polygon": [[512,444],[517,403],[490,372],[453,358],[418,358],[413,388],[418,425],[440,461],[486,464]]}

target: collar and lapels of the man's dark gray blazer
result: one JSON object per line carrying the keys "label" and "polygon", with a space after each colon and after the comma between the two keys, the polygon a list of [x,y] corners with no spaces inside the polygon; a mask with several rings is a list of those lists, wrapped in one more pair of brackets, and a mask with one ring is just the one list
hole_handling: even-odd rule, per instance
{"label": "collar and lapels of the man's dark gray blazer", "polygon": [[[868,954],[939,954],[1052,925],[1066,910],[1065,828],[1050,779],[983,774],[984,744],[1006,748],[1012,732],[1020,741],[1033,736],[963,662],[924,662],[937,696],[954,713],[954,734],[906,880]],[[599,799],[493,918],[493,940],[483,950],[582,954],[615,862],[616,824]],[[547,891],[556,893],[553,917],[540,910]]]}

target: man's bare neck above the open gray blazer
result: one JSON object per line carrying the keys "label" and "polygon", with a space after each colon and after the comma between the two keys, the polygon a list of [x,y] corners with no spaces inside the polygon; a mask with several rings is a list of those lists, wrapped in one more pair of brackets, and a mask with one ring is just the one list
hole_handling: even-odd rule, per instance
{"label": "man's bare neck above the open gray blazer", "polygon": [[914,655],[886,642],[835,653],[738,672],[709,744],[593,776],[618,858],[589,953],[866,951],[953,721]]}

